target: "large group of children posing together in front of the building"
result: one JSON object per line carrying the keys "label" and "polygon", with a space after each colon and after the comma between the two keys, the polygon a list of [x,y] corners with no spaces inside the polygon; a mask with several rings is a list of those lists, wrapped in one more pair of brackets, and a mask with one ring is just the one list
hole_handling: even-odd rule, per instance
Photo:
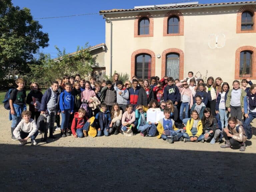
{"label": "large group of children posing together in front of the building", "polygon": [[[230,90],[220,77],[209,77],[204,83],[193,72],[183,80],[165,76],[151,77],[149,81],[134,76],[131,82],[120,81],[118,73],[112,81],[97,81],[94,77],[87,81],[76,74],[53,81],[44,94],[33,82],[28,96],[23,89],[24,80],[19,78],[16,83],[18,88],[11,92],[9,103],[12,139],[18,139],[19,145],[24,145],[28,138],[36,145],[35,137],[40,134],[36,122],[40,114],[45,114],[49,138],[53,139],[57,121],[55,130],[60,129],[61,137],[87,137],[92,127],[96,131],[93,136],[131,136],[136,132],[155,136],[149,130],[157,130],[157,138],[168,143],[209,140],[215,144],[224,137],[226,144],[222,148],[237,145],[244,151],[247,138],[243,118],[244,124],[249,125],[256,117],[256,84],[249,79],[243,79],[241,87],[235,80]],[[148,110],[163,111],[164,118],[148,122]],[[47,129],[43,140],[47,141]]]}

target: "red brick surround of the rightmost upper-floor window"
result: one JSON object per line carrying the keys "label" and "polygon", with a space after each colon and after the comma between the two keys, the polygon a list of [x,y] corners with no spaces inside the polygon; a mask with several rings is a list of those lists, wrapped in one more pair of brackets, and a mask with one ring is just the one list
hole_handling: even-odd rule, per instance
{"label": "red brick surround of the rightmost upper-floor window", "polygon": [[[241,29],[241,25],[243,25],[245,22],[242,21],[242,15],[243,13],[251,13],[252,14],[252,29]],[[241,7],[237,11],[236,15],[236,33],[256,33],[256,7],[253,5],[246,5]]]}

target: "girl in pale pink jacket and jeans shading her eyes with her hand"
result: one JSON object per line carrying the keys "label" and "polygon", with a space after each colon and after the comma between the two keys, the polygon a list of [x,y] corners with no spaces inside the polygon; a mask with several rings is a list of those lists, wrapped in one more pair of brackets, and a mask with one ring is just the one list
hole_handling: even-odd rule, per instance
{"label": "girl in pale pink jacket and jeans shading her eyes with her hand", "polygon": [[191,89],[188,87],[188,83],[185,81],[183,83],[178,83],[178,87],[183,84],[183,87],[180,88],[181,95],[181,105],[180,105],[180,120],[183,120],[183,111],[185,108],[185,118],[188,118],[189,109],[191,109],[193,105],[193,95]]}

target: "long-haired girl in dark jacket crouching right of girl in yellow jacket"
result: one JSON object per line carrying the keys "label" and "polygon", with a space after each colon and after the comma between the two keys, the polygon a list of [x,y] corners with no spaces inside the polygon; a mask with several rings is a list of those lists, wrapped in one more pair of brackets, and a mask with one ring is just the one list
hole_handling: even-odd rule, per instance
{"label": "long-haired girl in dark jacket crouching right of girl in yellow jacket", "polygon": [[211,144],[215,144],[216,140],[221,142],[220,129],[218,126],[218,121],[213,117],[210,108],[204,109],[204,116],[202,118],[203,130],[204,130],[204,139],[210,140]]}

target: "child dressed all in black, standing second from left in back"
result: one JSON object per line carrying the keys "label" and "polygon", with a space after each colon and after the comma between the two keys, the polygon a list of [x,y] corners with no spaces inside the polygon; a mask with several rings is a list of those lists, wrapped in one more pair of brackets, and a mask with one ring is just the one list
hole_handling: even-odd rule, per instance
{"label": "child dressed all in black, standing second from left in back", "polygon": [[39,89],[39,85],[36,82],[31,83],[30,85],[31,91],[27,96],[26,103],[29,105],[29,111],[31,111],[31,119],[35,119],[37,123],[37,119],[40,116],[40,104],[43,97],[42,92]]}

